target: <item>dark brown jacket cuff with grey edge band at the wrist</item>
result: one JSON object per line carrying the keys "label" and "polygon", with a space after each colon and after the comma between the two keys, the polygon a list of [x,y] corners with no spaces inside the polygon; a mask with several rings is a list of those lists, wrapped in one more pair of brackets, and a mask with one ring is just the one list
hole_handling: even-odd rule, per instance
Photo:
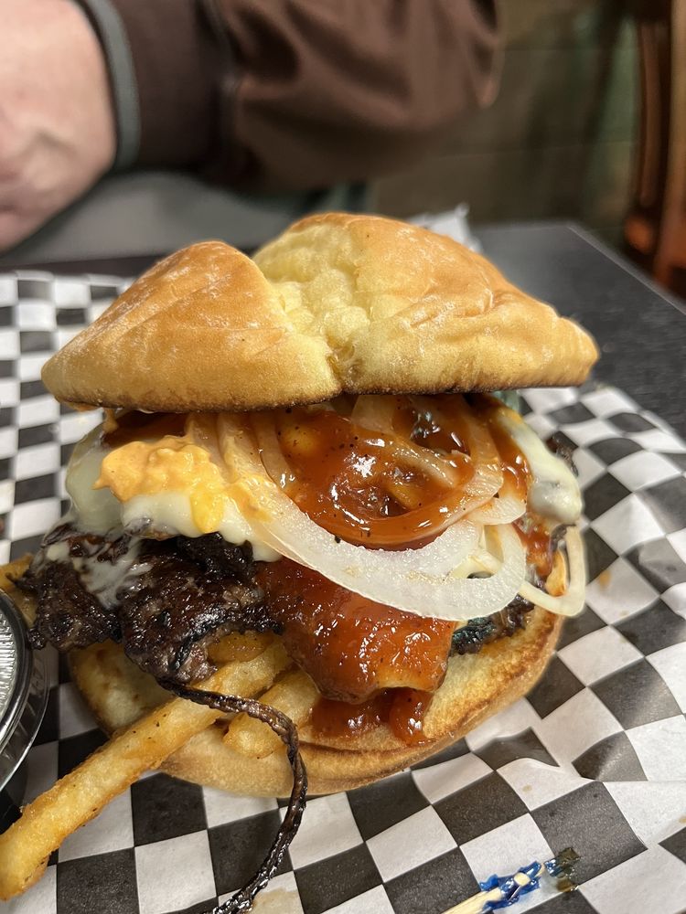
{"label": "dark brown jacket cuff with grey edge band at the wrist", "polygon": [[188,0],[80,3],[110,67],[119,127],[116,164],[200,165],[215,142],[220,61],[198,5]]}

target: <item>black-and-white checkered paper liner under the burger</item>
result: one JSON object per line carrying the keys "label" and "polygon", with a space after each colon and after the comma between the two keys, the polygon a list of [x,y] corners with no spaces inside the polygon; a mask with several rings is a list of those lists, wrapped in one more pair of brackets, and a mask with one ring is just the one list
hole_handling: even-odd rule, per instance
{"label": "black-and-white checkered paper liner under the burger", "polygon": [[[65,507],[63,466],[97,419],[39,381],[45,359],[123,288],[117,278],[0,276],[0,561],[38,546]],[[686,910],[686,446],[614,388],[526,394],[543,437],[574,449],[591,583],[531,694],[433,760],[311,800],[255,910],[438,914],[567,845],[573,896],[542,887],[515,910]],[[103,737],[50,654],[32,797]],[[53,855],[2,914],[207,911],[254,871],[283,803],[152,773]]]}

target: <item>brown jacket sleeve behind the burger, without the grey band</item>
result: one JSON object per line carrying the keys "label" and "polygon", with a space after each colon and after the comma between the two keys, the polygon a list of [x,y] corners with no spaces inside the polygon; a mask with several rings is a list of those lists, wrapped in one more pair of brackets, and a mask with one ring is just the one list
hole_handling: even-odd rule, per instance
{"label": "brown jacket sleeve behind the burger, without the grey band", "polygon": [[141,165],[256,189],[420,158],[495,90],[495,0],[112,0],[134,62]]}

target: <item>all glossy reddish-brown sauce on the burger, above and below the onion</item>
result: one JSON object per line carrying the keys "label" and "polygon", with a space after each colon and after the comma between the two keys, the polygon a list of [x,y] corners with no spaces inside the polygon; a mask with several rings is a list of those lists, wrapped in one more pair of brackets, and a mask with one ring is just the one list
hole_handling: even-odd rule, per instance
{"label": "all glossy reddish-brown sauce on the burger, above and below the onion", "polygon": [[[334,536],[387,548],[406,547],[423,533],[431,537],[474,473],[464,443],[466,409],[488,424],[504,474],[501,493],[526,499],[531,472],[516,442],[492,418],[497,401],[384,399],[392,401],[390,433],[363,428],[352,420],[351,407],[340,404],[273,413],[286,468],[282,485]],[[105,436],[110,446],[184,434],[183,417],[177,416],[129,413],[117,423]],[[409,450],[402,451],[403,443]],[[422,462],[424,450],[434,472]],[[420,459],[413,459],[417,454]],[[528,560],[545,578],[552,566],[549,530],[529,516],[515,526]],[[445,677],[455,625],[367,600],[286,558],[258,568],[286,650],[322,694],[312,725],[340,737],[385,723],[403,742],[421,743],[423,717]]]}

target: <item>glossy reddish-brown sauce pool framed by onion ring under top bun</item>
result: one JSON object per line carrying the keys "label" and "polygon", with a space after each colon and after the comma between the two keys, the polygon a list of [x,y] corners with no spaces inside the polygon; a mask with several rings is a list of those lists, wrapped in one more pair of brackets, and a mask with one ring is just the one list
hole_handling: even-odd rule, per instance
{"label": "glossy reddish-brown sauce pool framed by onion ring under top bun", "polygon": [[[407,398],[394,400],[393,428],[383,434],[333,409],[275,414],[290,471],[286,493],[319,526],[348,542],[401,547],[424,531],[429,535],[474,473],[455,432],[410,409]],[[423,465],[426,459],[436,472]]]}

